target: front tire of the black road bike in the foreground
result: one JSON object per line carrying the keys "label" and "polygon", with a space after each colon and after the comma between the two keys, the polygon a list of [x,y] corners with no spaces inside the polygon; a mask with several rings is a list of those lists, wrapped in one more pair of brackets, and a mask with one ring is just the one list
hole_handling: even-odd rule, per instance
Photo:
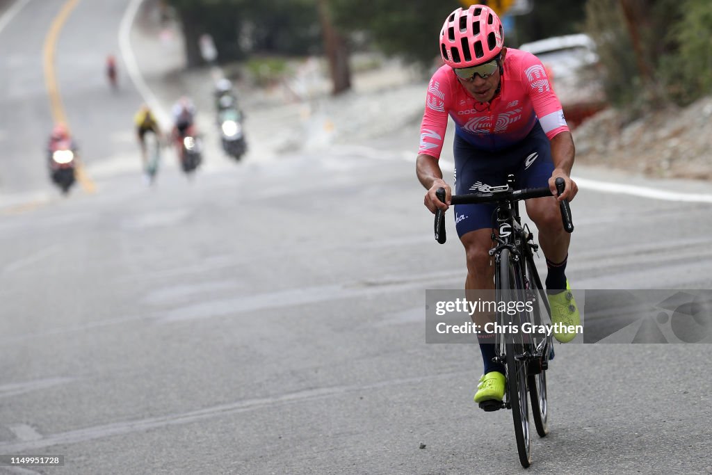
{"label": "front tire of the black road bike in the foreground", "polygon": [[[511,259],[509,250],[503,249],[500,254],[499,283],[502,296],[512,298],[513,275],[511,273]],[[514,422],[514,435],[517,442],[517,453],[520,464],[528,468],[531,464],[531,434],[529,432],[529,408],[528,408],[528,380],[526,362],[515,359],[515,352],[518,345],[514,343],[513,335],[509,334],[506,344],[506,367],[507,367],[507,391],[512,409],[512,419]]]}

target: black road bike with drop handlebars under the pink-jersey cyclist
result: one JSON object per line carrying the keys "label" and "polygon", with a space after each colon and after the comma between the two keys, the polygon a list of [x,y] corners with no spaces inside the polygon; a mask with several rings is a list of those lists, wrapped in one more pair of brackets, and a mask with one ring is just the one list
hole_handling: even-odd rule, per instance
{"label": "black road bike with drop handlebars under the pink-jersey cyclist", "polygon": [[[495,298],[505,303],[501,308],[516,308],[515,315],[506,311],[496,313],[500,325],[495,338],[493,361],[506,368],[506,392],[503,401],[484,401],[480,407],[486,411],[511,409],[519,461],[525,468],[531,464],[531,435],[529,432],[529,408],[527,392],[531,400],[532,418],[540,437],[548,434],[548,400],[546,371],[553,358],[553,338],[547,333],[535,333],[532,328],[550,325],[551,309],[546,292],[534,264],[534,254],[539,249],[528,225],[522,225],[519,202],[530,198],[550,197],[548,187],[514,189],[514,176],[508,175],[507,184],[489,187],[488,192],[454,195],[452,204],[493,203],[496,226],[492,230],[493,248],[489,254],[495,263]],[[564,179],[556,179],[557,193],[562,194]],[[445,202],[445,189],[436,192]],[[565,231],[574,226],[571,210],[566,200],[560,203],[562,224]],[[435,239],[440,244],[446,241],[445,215],[441,209],[435,214]],[[509,306],[509,303],[515,303]],[[530,303],[530,305],[527,305]],[[537,325],[533,327],[533,325]],[[497,327],[495,327],[497,328]]]}

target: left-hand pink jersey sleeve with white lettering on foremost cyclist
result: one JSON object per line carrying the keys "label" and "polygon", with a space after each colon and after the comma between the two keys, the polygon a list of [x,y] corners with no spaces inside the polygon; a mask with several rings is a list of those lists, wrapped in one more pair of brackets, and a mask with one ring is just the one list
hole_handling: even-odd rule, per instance
{"label": "left-hand pink jersey sleeve with white lettering on foremost cyclist", "polygon": [[420,123],[420,147],[418,154],[440,158],[445,140],[451,90],[446,70],[440,68],[430,79],[425,101],[425,112]]}

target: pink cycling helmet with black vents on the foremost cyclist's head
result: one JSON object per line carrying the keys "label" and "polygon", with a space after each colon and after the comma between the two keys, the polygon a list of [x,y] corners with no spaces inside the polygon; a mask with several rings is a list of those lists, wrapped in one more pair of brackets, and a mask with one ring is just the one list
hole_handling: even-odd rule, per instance
{"label": "pink cycling helmet with black vents on the foremost cyclist's head", "polygon": [[453,11],[440,31],[440,54],[452,68],[486,63],[502,51],[503,45],[502,22],[486,5]]}

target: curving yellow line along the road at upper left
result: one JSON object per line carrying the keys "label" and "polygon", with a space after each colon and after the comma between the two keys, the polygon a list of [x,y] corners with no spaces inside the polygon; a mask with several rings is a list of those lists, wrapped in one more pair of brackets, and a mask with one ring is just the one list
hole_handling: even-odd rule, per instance
{"label": "curving yellow line along the road at upper left", "polygon": [[[61,32],[64,23],[67,21],[69,14],[72,12],[74,7],[77,6],[78,3],[79,0],[69,0],[66,4],[64,4],[59,14],[52,21],[52,25],[49,28],[49,32],[47,33],[47,37],[45,38],[43,47],[45,85],[47,87],[47,93],[49,95],[52,117],[55,123],[62,122],[67,127],[69,127],[69,124],[67,122],[67,116],[64,113],[64,105],[62,104],[62,98],[59,94],[59,86],[57,85],[57,76],[54,69],[54,57],[59,33]],[[84,167],[81,165],[81,163],[77,164],[76,174],[77,179],[82,185],[82,188],[85,192],[95,192],[95,184],[92,179],[90,179],[89,175],[85,172]]]}

